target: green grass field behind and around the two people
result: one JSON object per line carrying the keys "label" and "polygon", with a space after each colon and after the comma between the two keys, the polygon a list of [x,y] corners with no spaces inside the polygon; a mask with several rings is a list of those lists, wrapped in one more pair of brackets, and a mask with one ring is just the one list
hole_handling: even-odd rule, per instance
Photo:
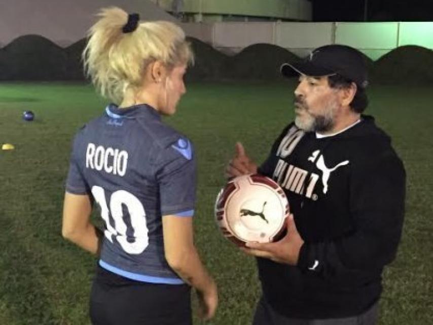
{"label": "green grass field behind and around the two people", "polygon": [[[254,259],[219,234],[214,198],[234,143],[257,161],[289,122],[294,84],[191,84],[167,122],[195,143],[196,244],[216,278],[218,325],[247,325],[260,294]],[[433,92],[376,86],[367,113],[393,138],[407,170],[407,212],[396,260],[384,272],[380,324],[433,324]],[[105,102],[90,86],[0,84],[0,324],[88,324],[95,257],[61,237],[70,144]],[[36,114],[21,120],[23,110]],[[290,288],[287,288],[289,290]],[[195,319],[196,324],[201,322]]]}

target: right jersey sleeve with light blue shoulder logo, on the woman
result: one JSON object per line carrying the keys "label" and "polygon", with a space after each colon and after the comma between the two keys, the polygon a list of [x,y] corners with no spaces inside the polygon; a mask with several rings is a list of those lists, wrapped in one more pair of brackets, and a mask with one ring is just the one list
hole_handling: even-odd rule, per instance
{"label": "right jersey sleeve with light blue shoulder logo, on the woman", "polygon": [[193,216],[196,200],[196,161],[186,138],[169,143],[158,155],[155,176],[162,215]]}

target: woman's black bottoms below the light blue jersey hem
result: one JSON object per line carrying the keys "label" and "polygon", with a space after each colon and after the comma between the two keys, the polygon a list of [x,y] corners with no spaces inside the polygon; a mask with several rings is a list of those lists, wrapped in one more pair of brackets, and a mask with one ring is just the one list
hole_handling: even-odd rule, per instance
{"label": "woman's black bottoms below the light blue jersey hem", "polygon": [[90,295],[94,325],[192,325],[190,287],[121,277],[99,267]]}

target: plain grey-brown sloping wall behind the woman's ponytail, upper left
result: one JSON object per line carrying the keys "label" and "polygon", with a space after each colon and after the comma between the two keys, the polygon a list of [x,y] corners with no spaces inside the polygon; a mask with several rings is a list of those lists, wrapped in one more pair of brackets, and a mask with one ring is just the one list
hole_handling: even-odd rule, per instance
{"label": "plain grey-brown sloping wall behind the woman's ponytail, upper left", "polygon": [[141,19],[177,21],[146,0],[0,0],[0,47],[28,34],[68,46],[86,37],[100,8],[119,6]]}

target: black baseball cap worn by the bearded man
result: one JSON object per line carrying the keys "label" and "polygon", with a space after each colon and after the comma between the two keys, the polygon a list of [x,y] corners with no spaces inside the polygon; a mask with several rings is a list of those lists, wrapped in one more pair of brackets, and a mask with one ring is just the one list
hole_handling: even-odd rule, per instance
{"label": "black baseball cap worn by the bearded man", "polygon": [[283,63],[281,74],[284,77],[291,77],[292,69],[311,77],[338,74],[353,81],[360,88],[368,86],[364,54],[347,45],[331,44],[318,47],[302,61]]}

